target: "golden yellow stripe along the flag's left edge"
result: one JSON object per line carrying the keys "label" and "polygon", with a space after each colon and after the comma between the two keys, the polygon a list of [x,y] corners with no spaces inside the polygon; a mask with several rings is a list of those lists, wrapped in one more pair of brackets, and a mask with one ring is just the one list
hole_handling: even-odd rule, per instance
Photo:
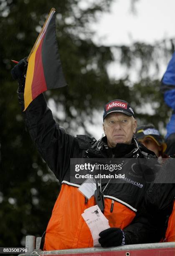
{"label": "golden yellow stripe along the flag's left edge", "polygon": [[[39,46],[40,44],[38,44]],[[36,51],[38,49],[38,46],[36,49],[33,51],[33,53],[30,55],[30,59],[28,61],[28,69],[27,69],[27,74],[26,74],[26,79],[25,79],[25,89],[24,89],[24,111],[32,102],[32,82],[33,82],[33,74],[34,74],[34,68],[35,68],[35,56],[36,56]]]}

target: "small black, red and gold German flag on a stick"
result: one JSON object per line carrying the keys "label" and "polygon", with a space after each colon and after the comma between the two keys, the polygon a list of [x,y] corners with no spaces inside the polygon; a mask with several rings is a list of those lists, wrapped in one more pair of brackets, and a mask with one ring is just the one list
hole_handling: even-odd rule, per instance
{"label": "small black, red and gold German flag on a stick", "polygon": [[42,92],[67,85],[58,52],[55,15],[55,9],[52,8],[28,57],[24,111]]}

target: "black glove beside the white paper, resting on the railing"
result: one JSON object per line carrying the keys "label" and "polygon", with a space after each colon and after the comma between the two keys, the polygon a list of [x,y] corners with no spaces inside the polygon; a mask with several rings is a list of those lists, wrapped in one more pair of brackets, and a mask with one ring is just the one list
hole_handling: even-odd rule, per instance
{"label": "black glove beside the white paper, resting on the railing", "polygon": [[99,233],[101,247],[125,245],[125,233],[120,228],[108,228]]}

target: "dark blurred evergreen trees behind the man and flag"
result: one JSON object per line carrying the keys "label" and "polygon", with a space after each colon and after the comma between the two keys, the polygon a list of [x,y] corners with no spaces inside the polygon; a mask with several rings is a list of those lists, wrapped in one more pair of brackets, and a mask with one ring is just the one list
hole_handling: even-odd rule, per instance
{"label": "dark blurred evergreen trees behind the man and flag", "polygon": [[[111,47],[93,43],[90,24],[109,10],[112,1],[101,0],[100,5],[94,1],[86,10],[81,10],[78,2],[0,0],[0,246],[24,246],[27,234],[42,236],[58,196],[58,181],[25,131],[17,82],[10,75],[14,66],[10,59],[19,61],[28,56],[51,7],[57,11],[58,46],[69,87],[45,95],[63,113],[60,120],[56,119],[68,133],[76,134],[81,127],[87,134],[85,123],[92,122],[93,110],[101,110],[114,98],[130,102],[136,113],[143,104],[150,103],[155,115],[149,111],[137,113],[139,123],[151,122],[165,128],[171,114],[163,102],[160,81],[145,74],[149,74],[150,64],[158,72],[160,56],[170,59],[175,40],[166,39],[169,44],[162,41],[155,45],[135,42],[130,47],[113,46],[120,52],[121,68],[129,70],[136,60],[140,61],[140,79],[135,84],[129,76],[118,81],[110,79],[107,67],[114,60]],[[131,1],[131,5],[135,2]]]}

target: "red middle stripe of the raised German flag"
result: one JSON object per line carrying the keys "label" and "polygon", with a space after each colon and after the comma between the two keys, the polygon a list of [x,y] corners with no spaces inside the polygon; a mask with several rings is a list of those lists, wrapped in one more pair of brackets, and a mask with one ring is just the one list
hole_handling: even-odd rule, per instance
{"label": "red middle stripe of the raised German flag", "polygon": [[[46,35],[46,34],[45,34]],[[43,61],[42,61],[42,45],[43,45],[43,39],[41,39],[40,45],[38,46],[38,49],[36,51],[35,56],[35,67],[33,72],[33,81],[32,81],[32,99],[34,100],[39,94],[42,92],[45,92],[47,90],[46,86],[46,79],[44,77],[44,71],[43,71]]]}

